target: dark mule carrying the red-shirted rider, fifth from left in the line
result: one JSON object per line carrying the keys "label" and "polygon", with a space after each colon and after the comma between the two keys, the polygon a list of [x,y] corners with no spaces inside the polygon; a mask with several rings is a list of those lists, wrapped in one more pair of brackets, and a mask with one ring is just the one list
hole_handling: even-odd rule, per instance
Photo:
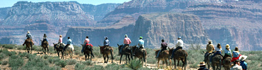
{"label": "dark mule carrying the red-shirted rider, fifth from left in the line", "polygon": [[[82,45],[82,44],[81,44]],[[92,49],[92,46],[91,45],[82,45],[82,47],[85,47],[84,49],[83,49],[83,52],[84,52],[84,55],[85,55],[85,61],[87,61],[87,59],[89,59],[89,56],[91,56],[90,57],[90,60],[92,61],[92,55],[91,55],[91,53],[92,53],[92,51],[91,51],[91,49]],[[87,58],[88,57],[88,58]]]}

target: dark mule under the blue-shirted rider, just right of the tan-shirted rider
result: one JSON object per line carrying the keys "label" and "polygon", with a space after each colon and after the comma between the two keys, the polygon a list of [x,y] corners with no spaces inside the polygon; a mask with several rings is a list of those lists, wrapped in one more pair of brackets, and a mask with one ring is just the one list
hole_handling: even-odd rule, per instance
{"label": "dark mule under the blue-shirted rider, just right of the tan-shirted rider", "polygon": [[221,64],[222,64],[221,59],[223,59],[221,55],[215,55],[214,57],[212,57],[211,65],[213,70],[216,70],[216,66],[217,69],[221,70]]}

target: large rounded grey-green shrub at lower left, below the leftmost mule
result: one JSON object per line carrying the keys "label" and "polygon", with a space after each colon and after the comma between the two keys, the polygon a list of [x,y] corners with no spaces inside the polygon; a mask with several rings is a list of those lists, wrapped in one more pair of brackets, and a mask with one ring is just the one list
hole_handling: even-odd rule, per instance
{"label": "large rounded grey-green shrub at lower left, below the leftmost mule", "polygon": [[24,59],[22,59],[22,57],[18,57],[17,55],[11,55],[8,60],[8,64],[10,67],[22,66],[24,64]]}

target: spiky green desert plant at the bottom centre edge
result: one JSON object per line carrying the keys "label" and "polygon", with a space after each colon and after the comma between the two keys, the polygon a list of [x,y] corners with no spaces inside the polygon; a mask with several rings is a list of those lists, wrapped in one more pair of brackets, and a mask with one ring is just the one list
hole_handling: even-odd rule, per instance
{"label": "spiky green desert plant at the bottom centre edge", "polygon": [[126,66],[128,66],[131,69],[139,69],[142,65],[143,64],[140,59],[133,59]]}

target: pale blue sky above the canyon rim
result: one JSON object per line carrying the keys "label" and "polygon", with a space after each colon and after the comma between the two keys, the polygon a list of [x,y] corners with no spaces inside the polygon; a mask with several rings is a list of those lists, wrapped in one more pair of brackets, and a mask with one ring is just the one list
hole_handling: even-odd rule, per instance
{"label": "pale blue sky above the canyon rim", "polygon": [[78,1],[78,3],[89,3],[99,5],[101,3],[124,3],[131,0],[0,0],[0,8],[11,7],[17,1],[31,1],[31,2],[44,2],[44,1]]}

